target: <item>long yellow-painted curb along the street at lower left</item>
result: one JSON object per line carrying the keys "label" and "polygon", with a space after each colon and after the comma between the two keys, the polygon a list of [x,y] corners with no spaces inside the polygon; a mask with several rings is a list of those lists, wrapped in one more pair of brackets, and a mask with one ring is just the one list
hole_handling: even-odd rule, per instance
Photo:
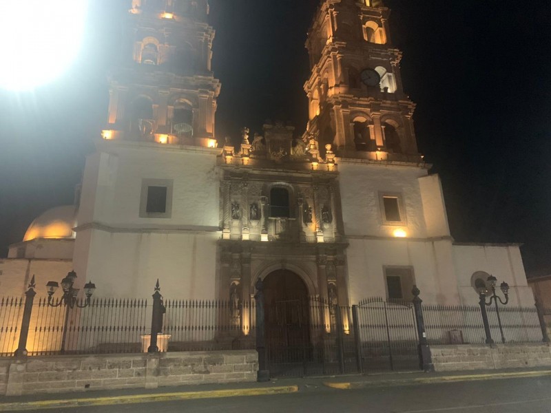
{"label": "long yellow-painted curb along the street at lower left", "polygon": [[125,405],[132,403],[152,403],[156,401],[219,399],[222,397],[262,396],[264,394],[284,394],[294,392],[298,392],[298,385],[286,385],[271,388],[209,390],[205,392],[136,394],[132,396],[110,396],[87,399],[23,401],[15,403],[0,403],[0,412],[14,410],[61,409],[65,407]]}

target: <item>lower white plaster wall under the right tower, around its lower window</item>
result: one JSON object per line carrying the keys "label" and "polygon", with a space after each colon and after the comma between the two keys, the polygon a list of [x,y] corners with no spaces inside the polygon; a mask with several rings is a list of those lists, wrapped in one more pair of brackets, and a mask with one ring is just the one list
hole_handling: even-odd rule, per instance
{"label": "lower white plaster wall under the right tower, around its lower window", "polygon": [[351,304],[386,297],[385,266],[410,266],[426,303],[459,304],[451,241],[349,240],[347,249]]}

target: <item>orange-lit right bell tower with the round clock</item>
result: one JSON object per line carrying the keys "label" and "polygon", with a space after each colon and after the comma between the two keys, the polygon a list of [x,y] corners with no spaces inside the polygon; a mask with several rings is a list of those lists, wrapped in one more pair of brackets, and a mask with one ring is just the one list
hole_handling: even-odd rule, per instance
{"label": "orange-lit right bell tower with the round clock", "polygon": [[420,159],[389,15],[381,0],[323,0],[308,33],[306,128],[342,158]]}

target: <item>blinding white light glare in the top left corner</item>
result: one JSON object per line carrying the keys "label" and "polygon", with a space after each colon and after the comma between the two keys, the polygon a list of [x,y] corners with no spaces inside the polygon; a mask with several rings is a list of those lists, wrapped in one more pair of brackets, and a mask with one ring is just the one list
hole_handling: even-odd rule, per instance
{"label": "blinding white light glare in the top left corner", "polygon": [[87,0],[1,0],[0,87],[29,90],[59,77],[79,52]]}

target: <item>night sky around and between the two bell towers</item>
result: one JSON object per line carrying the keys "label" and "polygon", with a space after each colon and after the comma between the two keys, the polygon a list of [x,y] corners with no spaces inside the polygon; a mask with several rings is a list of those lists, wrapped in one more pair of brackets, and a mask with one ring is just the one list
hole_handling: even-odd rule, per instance
{"label": "night sky around and between the two bell towers", "polygon": [[[0,257],[34,217],[73,200],[106,120],[105,72],[119,52],[123,3],[94,1],[84,52],[59,81],[0,94]],[[244,125],[260,131],[268,118],[302,133],[304,41],[318,0],[210,3],[218,138],[236,138]],[[524,243],[527,270],[551,273],[548,2],[386,4],[393,43],[404,51],[404,87],[417,103],[419,150],[441,176],[453,236]]]}

